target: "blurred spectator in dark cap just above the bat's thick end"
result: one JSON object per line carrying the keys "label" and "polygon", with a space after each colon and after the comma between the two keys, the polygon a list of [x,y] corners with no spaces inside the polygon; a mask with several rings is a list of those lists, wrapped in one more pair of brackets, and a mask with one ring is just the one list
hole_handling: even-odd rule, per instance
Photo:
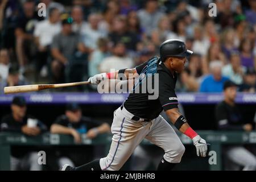
{"label": "blurred spectator in dark cap just above the bat's thick end", "polygon": [[28,82],[19,75],[19,66],[17,64],[13,64],[9,67],[7,78],[0,81],[0,93],[3,93],[3,88],[5,88],[5,86],[19,86],[27,84]]}

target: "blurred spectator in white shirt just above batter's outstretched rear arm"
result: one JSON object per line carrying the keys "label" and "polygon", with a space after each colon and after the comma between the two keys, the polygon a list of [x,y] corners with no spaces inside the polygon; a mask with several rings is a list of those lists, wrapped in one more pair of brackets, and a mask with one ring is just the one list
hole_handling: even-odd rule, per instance
{"label": "blurred spectator in white shirt just above batter's outstretched rear arm", "polygon": [[100,64],[100,72],[110,72],[110,69],[115,71],[123,68],[132,68],[133,60],[126,56],[126,47],[123,43],[116,43],[113,47],[113,56],[106,57]]}

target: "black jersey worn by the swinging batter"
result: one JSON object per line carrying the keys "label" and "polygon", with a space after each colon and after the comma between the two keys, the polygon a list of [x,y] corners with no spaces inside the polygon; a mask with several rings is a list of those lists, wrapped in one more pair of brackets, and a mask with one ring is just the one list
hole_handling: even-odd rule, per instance
{"label": "black jersey worn by the swinging batter", "polygon": [[[139,78],[135,81],[134,92],[129,94],[124,103],[125,108],[130,113],[137,117],[154,119],[158,117],[162,110],[166,111],[177,107],[178,101],[175,93],[177,75],[175,72],[172,74],[158,56],[138,65],[136,71]],[[150,84],[152,86],[148,86],[150,79],[147,78],[149,77],[152,77],[152,84]],[[154,85],[156,88],[154,88]],[[146,93],[143,92],[143,87],[152,87],[154,93],[158,89],[159,94],[156,94],[158,97],[149,99],[148,96],[152,96],[154,93],[148,90]]]}

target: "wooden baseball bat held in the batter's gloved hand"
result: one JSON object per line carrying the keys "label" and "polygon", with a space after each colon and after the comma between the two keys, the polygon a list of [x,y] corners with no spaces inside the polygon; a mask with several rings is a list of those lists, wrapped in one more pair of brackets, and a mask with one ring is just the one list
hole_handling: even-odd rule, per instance
{"label": "wooden baseball bat held in the batter's gloved hand", "polygon": [[67,86],[77,86],[90,84],[88,81],[72,82],[67,84],[43,84],[43,85],[22,85],[22,86],[6,86],[4,88],[5,94],[9,93],[21,93],[21,92],[33,92],[44,89],[62,88]]}

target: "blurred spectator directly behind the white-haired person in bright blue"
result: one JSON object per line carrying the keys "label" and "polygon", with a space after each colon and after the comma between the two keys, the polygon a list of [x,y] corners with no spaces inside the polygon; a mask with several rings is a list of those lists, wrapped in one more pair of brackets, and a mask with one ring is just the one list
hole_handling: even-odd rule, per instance
{"label": "blurred spectator directly behind the white-haired person in bright blue", "polygon": [[220,44],[217,42],[210,44],[207,55],[203,56],[202,71],[204,75],[209,73],[209,64],[214,60],[220,60],[222,65],[226,64],[226,57],[224,53],[221,52]]}

